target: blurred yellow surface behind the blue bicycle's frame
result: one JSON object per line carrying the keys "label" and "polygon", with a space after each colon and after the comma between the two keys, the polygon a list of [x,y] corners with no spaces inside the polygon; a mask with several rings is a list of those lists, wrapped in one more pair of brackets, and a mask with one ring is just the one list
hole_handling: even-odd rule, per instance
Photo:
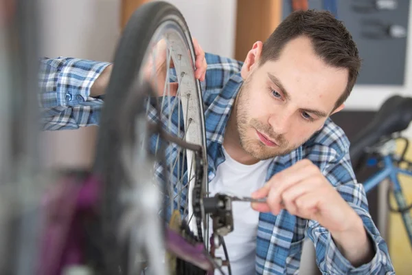
{"label": "blurred yellow surface behind the blue bicycle's frame", "polygon": [[[410,145],[405,155],[405,159],[412,162],[412,140],[409,141]],[[400,140],[397,143],[397,151],[400,153],[404,148],[404,141]],[[402,190],[407,199],[407,204],[412,203],[412,177],[407,175],[400,175],[399,181],[402,186]],[[391,205],[396,207],[396,201],[391,195]],[[412,212],[411,212],[412,213]],[[405,229],[402,217],[395,212],[389,212],[389,254],[393,265],[395,267],[396,274],[409,275],[412,274],[412,247],[407,236],[407,230]]]}

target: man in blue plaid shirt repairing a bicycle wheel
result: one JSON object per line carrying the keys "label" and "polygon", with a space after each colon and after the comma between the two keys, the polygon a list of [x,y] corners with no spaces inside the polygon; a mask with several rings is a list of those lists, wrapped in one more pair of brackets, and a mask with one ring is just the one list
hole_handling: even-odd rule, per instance
{"label": "man in blue plaid shirt repairing a bicycle wheel", "polygon": [[[350,144],[329,118],[343,109],[361,63],[345,27],[328,12],[294,12],[244,63],[206,54],[205,73],[196,49],[209,189],[267,197],[233,206],[235,230],[225,238],[233,274],[295,274],[305,236],[323,274],[392,274]],[[110,68],[45,61],[45,129],[98,124],[102,100],[93,96],[104,91]]]}

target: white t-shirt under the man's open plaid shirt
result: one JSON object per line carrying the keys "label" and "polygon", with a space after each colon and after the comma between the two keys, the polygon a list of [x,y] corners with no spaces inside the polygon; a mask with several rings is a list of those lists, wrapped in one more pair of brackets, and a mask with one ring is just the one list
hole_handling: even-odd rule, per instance
{"label": "white t-shirt under the man's open plaid shirt", "polygon": [[[225,162],[216,170],[216,176],[209,182],[209,192],[247,196],[265,184],[268,165],[271,159],[253,165],[244,165],[232,159],[222,147]],[[251,208],[251,203],[233,201],[233,231],[225,236],[225,244],[233,275],[255,274],[256,235],[258,232],[259,212]],[[211,231],[211,220],[209,222]],[[216,256],[225,259],[222,245]],[[223,270],[227,274],[227,268]]]}

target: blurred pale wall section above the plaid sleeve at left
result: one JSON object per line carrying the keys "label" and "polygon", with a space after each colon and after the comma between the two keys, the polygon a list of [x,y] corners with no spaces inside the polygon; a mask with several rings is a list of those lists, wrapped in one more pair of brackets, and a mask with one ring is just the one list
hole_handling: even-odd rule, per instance
{"label": "blurred pale wall section above the plaid sleeve at left", "polygon": [[119,37],[119,0],[40,0],[42,54],[111,61]]}

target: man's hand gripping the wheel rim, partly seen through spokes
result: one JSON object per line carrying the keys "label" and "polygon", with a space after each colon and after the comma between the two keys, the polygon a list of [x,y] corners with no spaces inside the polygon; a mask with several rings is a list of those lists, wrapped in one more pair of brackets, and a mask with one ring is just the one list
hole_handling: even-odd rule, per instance
{"label": "man's hand gripping the wheel rim, partly seen through spokes", "polygon": [[[195,72],[196,79],[204,81],[207,69],[207,63],[205,59],[205,52],[203,52],[201,45],[198,44],[196,39],[193,39],[194,52],[196,54]],[[157,96],[163,96],[166,74],[168,72],[168,56],[167,45],[164,40],[161,40],[155,45],[152,50],[152,54],[148,57],[147,63],[144,65],[144,75],[146,79],[151,83],[153,89],[157,92]],[[111,70],[113,65],[109,65],[104,69],[102,74],[95,80],[91,87],[91,97],[101,96],[106,91],[106,87],[110,80]],[[174,67],[172,58],[170,58],[169,68]],[[154,77],[155,76],[155,77]],[[178,83],[170,83],[170,96],[176,95],[178,89]]]}

